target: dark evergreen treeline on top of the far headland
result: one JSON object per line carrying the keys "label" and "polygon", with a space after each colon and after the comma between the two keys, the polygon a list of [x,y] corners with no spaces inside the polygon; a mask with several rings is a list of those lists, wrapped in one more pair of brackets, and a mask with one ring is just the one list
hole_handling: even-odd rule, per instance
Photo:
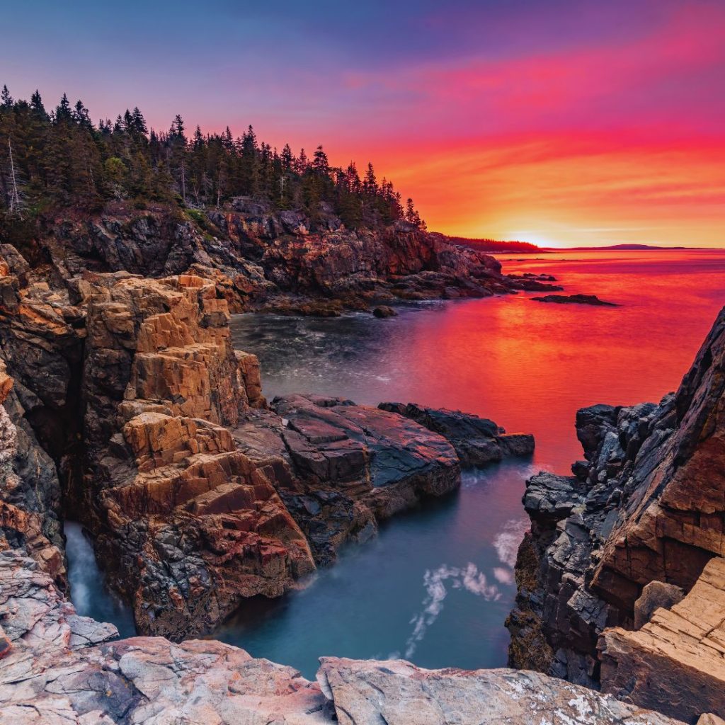
{"label": "dark evergreen treeline on top of the far headland", "polygon": [[220,207],[235,196],[274,209],[303,210],[312,220],[333,212],[349,228],[405,220],[425,228],[412,199],[378,181],[372,164],[360,175],[354,162],[330,165],[323,146],[311,157],[257,141],[250,125],[234,138],[188,134],[181,116],[169,130],[149,129],[138,108],[115,121],[91,122],[82,101],[64,94],[55,109],[36,91],[15,101],[0,97],[0,214],[28,218],[61,207],[101,208],[114,199]]}

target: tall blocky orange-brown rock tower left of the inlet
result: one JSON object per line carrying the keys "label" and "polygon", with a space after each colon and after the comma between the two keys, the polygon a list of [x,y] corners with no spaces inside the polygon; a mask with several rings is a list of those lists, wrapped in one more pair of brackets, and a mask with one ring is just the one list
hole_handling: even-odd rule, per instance
{"label": "tall blocky orange-brown rock tower left of the inlet", "polygon": [[91,282],[76,506],[141,631],[209,631],[243,597],[281,595],[315,566],[272,482],[225,427],[249,410],[246,381],[262,405],[258,363],[231,348],[213,283]]}

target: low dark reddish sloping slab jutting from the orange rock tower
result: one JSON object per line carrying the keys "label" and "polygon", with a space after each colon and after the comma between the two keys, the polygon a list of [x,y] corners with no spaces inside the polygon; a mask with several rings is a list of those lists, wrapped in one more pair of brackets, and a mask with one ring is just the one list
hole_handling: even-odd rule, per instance
{"label": "low dark reddish sloping slab jutting from the orange rock tower", "polygon": [[401,415],[314,395],[278,397],[272,408],[234,436],[276,482],[318,564],[373,536],[381,519],[460,485],[451,445]]}

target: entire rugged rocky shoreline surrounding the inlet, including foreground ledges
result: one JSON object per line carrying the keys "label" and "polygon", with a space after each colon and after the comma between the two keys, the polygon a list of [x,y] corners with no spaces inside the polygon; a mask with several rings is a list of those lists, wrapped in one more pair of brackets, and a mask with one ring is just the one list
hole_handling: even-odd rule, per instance
{"label": "entire rugged rocky shoreline surrounding the inlet, including foreground ledges", "polygon": [[[455,491],[462,466],[534,450],[460,411],[268,402],[230,312],[339,314],[551,281],[502,276],[492,257],[405,224],[350,232],[323,215],[311,232],[244,200],[204,219],[119,206],[47,225],[30,260],[0,244],[0,721],[725,717],[725,311],[674,396],[579,411],[586,460],[527,482],[515,670],[323,658],[312,683],[189,639]],[[147,636],[117,640],[75,613],[64,518],[91,533]]]}

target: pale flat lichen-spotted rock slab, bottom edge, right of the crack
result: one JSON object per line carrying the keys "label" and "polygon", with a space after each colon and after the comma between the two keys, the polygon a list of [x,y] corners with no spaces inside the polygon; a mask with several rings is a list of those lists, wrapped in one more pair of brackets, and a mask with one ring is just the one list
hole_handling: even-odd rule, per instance
{"label": "pale flat lichen-spotted rock slab, bottom edge, right of the crack", "polygon": [[676,721],[531,671],[425,670],[401,660],[324,657],[340,725],[666,725]]}

